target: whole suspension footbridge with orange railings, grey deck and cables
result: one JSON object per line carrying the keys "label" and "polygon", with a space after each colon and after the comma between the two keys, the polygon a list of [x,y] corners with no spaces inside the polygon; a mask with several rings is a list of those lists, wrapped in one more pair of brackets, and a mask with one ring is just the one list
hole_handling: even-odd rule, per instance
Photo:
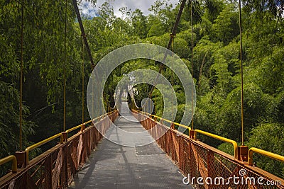
{"label": "whole suspension footbridge with orange railings, grey deck and cables", "polygon": [[[94,65],[77,1],[73,4]],[[181,1],[168,49],[173,45],[184,6],[185,0]],[[84,103],[82,106],[84,109]],[[193,122],[189,127],[153,115],[146,111],[149,107],[142,111],[135,104],[121,102],[118,109],[0,159],[0,166],[12,164],[11,171],[0,178],[0,188],[284,188],[283,178],[256,167],[253,155],[282,162],[284,157],[244,146],[244,130],[239,146],[234,140],[194,129]],[[241,112],[243,119],[243,108]],[[20,120],[21,116],[20,112]],[[180,132],[179,127],[188,134]],[[129,137],[119,130],[138,134]],[[204,144],[200,135],[231,144],[234,154]],[[51,141],[58,143],[31,158],[31,151]]]}

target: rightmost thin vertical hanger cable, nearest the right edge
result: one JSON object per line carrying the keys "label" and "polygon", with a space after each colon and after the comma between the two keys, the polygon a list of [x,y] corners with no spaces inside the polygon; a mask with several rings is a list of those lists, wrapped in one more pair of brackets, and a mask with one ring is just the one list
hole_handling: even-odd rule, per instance
{"label": "rightmost thin vertical hanger cable, nearest the right edge", "polygon": [[241,62],[241,146],[244,146],[244,76],[243,76],[243,44],[241,38],[241,0],[239,0],[239,32],[240,32],[240,62]]}

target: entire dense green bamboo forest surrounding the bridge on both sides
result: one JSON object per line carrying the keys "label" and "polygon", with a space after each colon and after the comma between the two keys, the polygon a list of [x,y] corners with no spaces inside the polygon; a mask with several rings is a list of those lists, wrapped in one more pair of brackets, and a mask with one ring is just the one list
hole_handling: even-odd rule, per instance
{"label": "entire dense green bamboo forest surrounding the bridge on both sides", "polygon": [[[80,1],[81,2],[81,1]],[[91,1],[96,4],[96,1]],[[193,7],[193,31],[190,7]],[[118,47],[148,42],[166,47],[180,5],[157,0],[149,15],[139,9],[120,8],[123,18],[114,15],[114,1],[99,7],[99,16],[84,19],[94,62]],[[283,154],[284,144],[284,22],[283,1],[246,0],[243,8],[244,128],[250,146]],[[0,153],[18,150],[18,80],[21,59],[21,4],[0,1]],[[281,8],[282,7],[282,8]],[[173,51],[191,70],[197,88],[195,128],[241,140],[241,83],[239,53],[239,14],[234,1],[187,1],[173,42]],[[38,142],[62,131],[63,68],[67,78],[67,127],[81,122],[82,59],[84,85],[89,67],[87,52],[82,52],[80,28],[71,2],[67,4],[67,44],[65,53],[65,1],[25,0],[23,38],[23,143]],[[192,39],[193,35],[193,39]],[[193,44],[192,44],[193,40]],[[191,62],[191,45],[193,62]],[[162,56],[162,55],[161,55]],[[66,62],[65,62],[66,57]],[[170,59],[170,57],[168,57]],[[136,59],[117,67],[104,86],[104,104],[114,107],[114,90],[120,79],[136,69],[159,70],[160,63]],[[178,98],[175,122],[185,110],[185,92],[178,77],[168,67],[162,74],[173,84]],[[169,88],[165,91],[170,91]],[[185,86],[186,87],[186,86]],[[141,105],[152,86],[135,86],[136,104]],[[86,88],[84,88],[85,90]],[[163,114],[163,99],[158,88],[152,93],[155,113]],[[171,110],[165,110],[170,114]],[[85,108],[85,119],[88,118]],[[282,135],[281,135],[282,134]],[[231,154],[230,144],[199,136],[203,142]],[[7,143],[9,141],[9,144]],[[47,149],[48,147],[46,147]],[[44,149],[43,149],[44,150]],[[35,152],[34,155],[36,155]],[[258,156],[257,166],[283,176],[283,165]],[[282,168],[282,170],[281,170]],[[3,169],[4,170],[4,169]],[[6,172],[6,169],[2,173]]]}

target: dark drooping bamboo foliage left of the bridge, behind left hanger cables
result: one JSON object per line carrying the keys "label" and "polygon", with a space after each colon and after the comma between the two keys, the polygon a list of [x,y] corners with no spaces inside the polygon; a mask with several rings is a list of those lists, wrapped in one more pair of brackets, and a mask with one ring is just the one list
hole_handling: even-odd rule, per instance
{"label": "dark drooping bamboo foliage left of the bridge, behind left hanger cables", "polygon": [[[72,2],[24,1],[23,17],[23,149],[62,131],[63,64],[66,55],[67,125],[80,122],[80,33]],[[21,4],[0,1],[1,157],[19,149],[19,73]],[[77,27],[77,26],[76,26]],[[86,73],[87,76],[87,73]],[[71,108],[72,107],[72,108]],[[55,115],[56,114],[56,115]],[[79,119],[78,119],[79,118]],[[39,150],[31,153],[35,156]],[[6,173],[2,169],[1,173]]]}

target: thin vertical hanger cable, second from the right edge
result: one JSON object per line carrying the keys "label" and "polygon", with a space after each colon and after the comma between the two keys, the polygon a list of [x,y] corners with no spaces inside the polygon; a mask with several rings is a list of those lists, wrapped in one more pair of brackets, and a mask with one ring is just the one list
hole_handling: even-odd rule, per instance
{"label": "thin vertical hanger cable, second from the right edge", "polygon": [[191,129],[193,130],[193,16],[192,16],[192,3],[193,0],[190,2],[190,25],[191,25],[191,76],[192,76],[192,84],[191,84]]}

